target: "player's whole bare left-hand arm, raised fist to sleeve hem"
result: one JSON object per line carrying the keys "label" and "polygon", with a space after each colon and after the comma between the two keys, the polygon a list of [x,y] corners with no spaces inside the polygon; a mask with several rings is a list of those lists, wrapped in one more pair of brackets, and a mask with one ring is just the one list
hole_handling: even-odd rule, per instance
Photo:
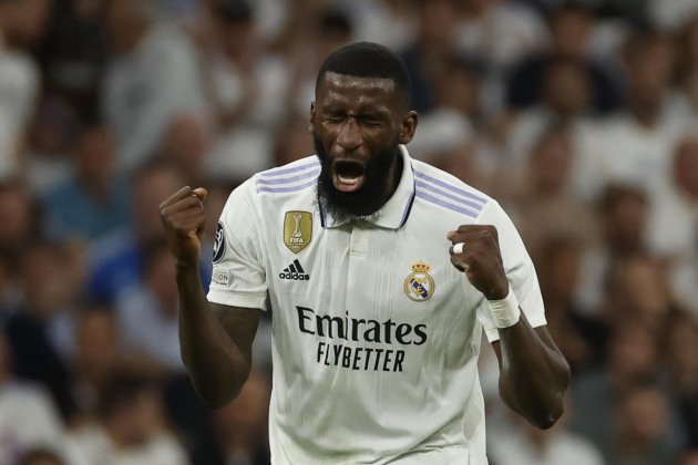
{"label": "player's whole bare left-hand arm, raised fist to sleeve hem", "polygon": [[204,189],[184,187],[160,213],[177,271],[182,360],[197,394],[218,407],[247,381],[260,310],[209,304],[204,296],[198,261],[205,196]]}

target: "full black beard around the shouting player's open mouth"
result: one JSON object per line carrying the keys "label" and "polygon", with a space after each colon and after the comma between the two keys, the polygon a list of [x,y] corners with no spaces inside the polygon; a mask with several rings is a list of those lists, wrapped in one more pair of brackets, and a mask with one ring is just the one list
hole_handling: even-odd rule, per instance
{"label": "full black beard around the shouting player's open mouth", "polygon": [[371,157],[363,174],[366,180],[359,190],[342,193],[335,188],[332,158],[317,135],[314,134],[312,140],[321,166],[318,177],[318,202],[322,211],[329,214],[336,223],[378,219],[380,215],[378,210],[388,202],[390,168],[400,156],[398,141],[396,140],[388,149]]}

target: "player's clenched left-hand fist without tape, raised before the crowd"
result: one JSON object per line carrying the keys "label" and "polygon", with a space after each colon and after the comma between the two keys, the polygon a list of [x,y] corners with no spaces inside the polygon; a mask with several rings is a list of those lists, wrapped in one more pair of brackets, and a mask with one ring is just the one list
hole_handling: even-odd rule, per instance
{"label": "player's clenched left-hand fist without tape, raised before the crowd", "polygon": [[202,256],[202,235],[206,225],[205,188],[183,187],[160,204],[165,238],[177,266],[197,266]]}

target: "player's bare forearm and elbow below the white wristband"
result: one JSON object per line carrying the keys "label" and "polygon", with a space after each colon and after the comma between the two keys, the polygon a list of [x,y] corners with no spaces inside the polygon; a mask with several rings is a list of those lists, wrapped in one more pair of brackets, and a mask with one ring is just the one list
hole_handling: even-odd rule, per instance
{"label": "player's bare forearm and elbow below the white wristband", "polygon": [[502,400],[531,424],[547,428],[563,413],[569,366],[552,340],[544,341],[522,313],[520,321],[499,330]]}

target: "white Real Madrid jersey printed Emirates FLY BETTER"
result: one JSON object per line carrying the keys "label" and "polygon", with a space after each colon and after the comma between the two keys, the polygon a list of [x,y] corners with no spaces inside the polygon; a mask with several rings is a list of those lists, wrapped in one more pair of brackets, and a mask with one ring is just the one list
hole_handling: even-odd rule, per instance
{"label": "white Real Madrid jersey printed Emirates FLY BETTER", "polygon": [[222,215],[208,299],[273,311],[271,462],[486,464],[478,378],[482,293],[450,262],[446,232],[499,230],[509,280],[545,324],[533,264],[500,205],[411,159],[372,221],[319,207],[320,164],[259,173]]}

